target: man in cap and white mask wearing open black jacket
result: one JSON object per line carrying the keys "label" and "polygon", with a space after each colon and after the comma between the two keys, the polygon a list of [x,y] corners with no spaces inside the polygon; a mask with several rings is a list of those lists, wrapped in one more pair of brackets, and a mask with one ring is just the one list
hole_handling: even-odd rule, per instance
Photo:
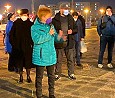
{"label": "man in cap and white mask wearing open black jacket", "polygon": [[71,80],[75,80],[74,75],[74,50],[75,50],[75,37],[77,33],[77,27],[75,27],[75,21],[69,14],[69,7],[66,3],[60,5],[60,12],[55,15],[52,23],[57,33],[62,32],[65,39],[62,43],[55,42],[55,48],[57,52],[57,64],[55,65],[55,80],[61,77],[62,58],[65,53],[67,58],[68,77]]}

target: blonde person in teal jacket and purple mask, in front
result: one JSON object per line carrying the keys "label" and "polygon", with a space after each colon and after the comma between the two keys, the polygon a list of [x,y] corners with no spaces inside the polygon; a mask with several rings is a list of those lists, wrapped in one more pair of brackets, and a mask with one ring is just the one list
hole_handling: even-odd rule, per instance
{"label": "blonde person in teal jacket and purple mask, in front", "polygon": [[[42,79],[44,67],[47,69],[49,98],[54,95],[54,64],[56,64],[56,50],[54,41],[62,42],[62,34],[57,35],[51,22],[51,9],[42,7],[38,9],[38,17],[31,27],[31,36],[34,42],[32,62],[36,65],[36,96],[42,98]],[[49,24],[50,23],[50,24]]]}

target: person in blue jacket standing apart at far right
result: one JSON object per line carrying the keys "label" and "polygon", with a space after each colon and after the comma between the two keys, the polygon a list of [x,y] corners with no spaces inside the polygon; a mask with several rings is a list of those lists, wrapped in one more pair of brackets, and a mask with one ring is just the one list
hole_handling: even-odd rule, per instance
{"label": "person in blue jacket standing apart at far right", "polygon": [[108,45],[108,68],[113,68],[112,65],[112,52],[114,47],[115,36],[115,15],[111,6],[106,7],[105,15],[98,21],[97,26],[98,35],[100,36],[100,51],[98,57],[98,67],[103,67],[103,55]]}

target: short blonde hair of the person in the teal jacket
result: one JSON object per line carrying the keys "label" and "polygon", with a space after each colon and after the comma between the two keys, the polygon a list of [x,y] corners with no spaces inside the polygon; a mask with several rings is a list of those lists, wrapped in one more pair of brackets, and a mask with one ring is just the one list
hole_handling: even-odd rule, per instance
{"label": "short blonde hair of the person in the teal jacket", "polygon": [[38,12],[37,12],[37,16],[39,17],[39,19],[41,20],[41,18],[43,16],[46,16],[46,15],[52,15],[52,10],[48,7],[41,7],[38,9]]}

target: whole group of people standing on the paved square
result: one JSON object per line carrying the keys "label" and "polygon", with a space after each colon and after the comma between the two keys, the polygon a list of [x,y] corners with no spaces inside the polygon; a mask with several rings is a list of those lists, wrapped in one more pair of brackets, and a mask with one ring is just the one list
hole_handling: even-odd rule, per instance
{"label": "whole group of people standing on the paved square", "polygon": [[[34,22],[29,19],[28,9],[21,9],[20,18],[17,20],[14,13],[8,15],[5,38],[5,53],[9,54],[8,71],[18,72],[20,76],[18,83],[23,83],[25,68],[27,82],[31,83],[30,70],[36,68],[37,98],[42,98],[44,67],[47,69],[49,98],[55,98],[54,85],[55,81],[61,78],[64,54],[67,58],[70,80],[76,80],[74,66],[82,67],[80,42],[85,38],[85,19],[80,12],[70,14],[66,4],[61,4],[59,9],[59,13],[52,18],[50,8],[40,7]],[[113,68],[115,16],[111,6],[106,8],[105,15],[100,18],[97,30],[100,36],[98,67],[103,67],[103,55],[108,44],[107,66]]]}

